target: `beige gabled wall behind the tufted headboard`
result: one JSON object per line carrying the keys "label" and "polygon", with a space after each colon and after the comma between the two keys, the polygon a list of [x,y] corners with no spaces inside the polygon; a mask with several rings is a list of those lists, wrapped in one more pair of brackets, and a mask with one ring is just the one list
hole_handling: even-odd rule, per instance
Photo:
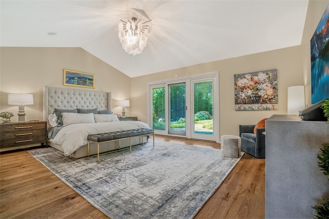
{"label": "beige gabled wall behind the tufted headboard", "polygon": [[[13,112],[12,121],[18,121],[18,107],[8,105],[8,93],[33,94],[34,105],[25,106],[28,121],[42,120],[43,86],[81,89],[63,85],[63,69],[96,74],[90,90],[112,91],[116,113],[121,112],[116,100],[130,98],[131,78],[81,48],[1,47],[0,61],[0,111]],[[126,111],[130,114],[129,107]]]}

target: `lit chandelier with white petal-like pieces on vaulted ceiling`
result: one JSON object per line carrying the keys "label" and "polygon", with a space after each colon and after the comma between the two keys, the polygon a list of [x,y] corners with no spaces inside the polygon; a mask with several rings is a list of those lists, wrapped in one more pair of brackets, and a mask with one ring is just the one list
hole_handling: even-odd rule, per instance
{"label": "lit chandelier with white petal-like pieces on vaulted ceiling", "polygon": [[145,24],[152,20],[150,19],[144,23],[139,20],[136,23],[137,18],[132,17],[132,21],[129,19],[127,22],[120,21],[118,30],[122,49],[130,55],[133,54],[133,56],[142,53],[147,45],[148,37],[151,32],[151,25]]}

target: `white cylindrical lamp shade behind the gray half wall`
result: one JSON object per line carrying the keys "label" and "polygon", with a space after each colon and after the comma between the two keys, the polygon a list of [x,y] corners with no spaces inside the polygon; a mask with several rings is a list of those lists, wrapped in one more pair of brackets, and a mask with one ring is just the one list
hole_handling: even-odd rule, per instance
{"label": "white cylindrical lamp shade behind the gray half wall", "polygon": [[305,108],[304,86],[288,87],[287,114],[298,115]]}

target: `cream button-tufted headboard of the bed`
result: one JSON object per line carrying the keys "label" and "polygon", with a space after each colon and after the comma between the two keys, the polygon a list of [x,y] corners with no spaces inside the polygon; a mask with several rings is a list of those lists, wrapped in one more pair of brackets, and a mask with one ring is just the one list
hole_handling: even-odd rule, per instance
{"label": "cream button-tufted headboard of the bed", "polygon": [[48,121],[48,115],[53,113],[54,108],[112,109],[112,94],[111,92],[44,86],[42,115],[44,121]]}

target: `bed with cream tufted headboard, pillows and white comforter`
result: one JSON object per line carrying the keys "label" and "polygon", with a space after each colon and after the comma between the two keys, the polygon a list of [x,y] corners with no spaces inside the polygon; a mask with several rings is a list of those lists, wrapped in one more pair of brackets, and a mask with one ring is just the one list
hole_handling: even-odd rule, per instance
{"label": "bed with cream tufted headboard, pillows and white comforter", "polygon": [[[48,145],[62,151],[65,156],[80,158],[87,156],[88,134],[150,128],[148,124],[140,121],[119,121],[116,115],[109,113],[111,110],[111,92],[44,86],[43,120],[48,121]],[[58,115],[62,116],[60,120],[58,120]],[[56,117],[56,125],[52,123],[54,117]],[[59,121],[62,123],[61,126],[59,126]],[[142,140],[141,137],[134,137],[132,145],[147,142],[147,138],[144,136]],[[129,145],[128,139],[121,141],[121,148],[129,147]],[[117,142],[104,143],[100,148],[100,153],[115,149],[118,149]],[[90,144],[89,153],[90,155],[97,154],[96,143]]]}

